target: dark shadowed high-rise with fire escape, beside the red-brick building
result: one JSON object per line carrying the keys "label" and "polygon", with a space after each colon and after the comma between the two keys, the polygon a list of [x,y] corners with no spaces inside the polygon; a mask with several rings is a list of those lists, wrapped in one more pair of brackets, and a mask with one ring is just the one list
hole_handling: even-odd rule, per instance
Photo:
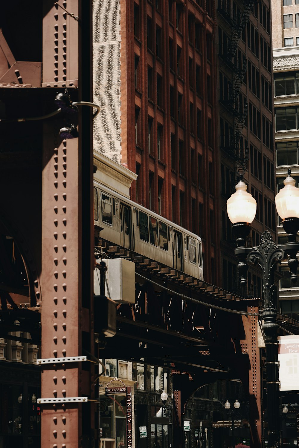
{"label": "dark shadowed high-rise with fire escape, beside the red-brick building", "polygon": [[[260,244],[264,229],[276,235],[269,1],[219,0],[217,24],[222,281],[224,288],[238,292],[226,200],[240,174],[257,202],[249,245]],[[261,297],[261,283],[260,272],[249,269],[250,297]]]}

